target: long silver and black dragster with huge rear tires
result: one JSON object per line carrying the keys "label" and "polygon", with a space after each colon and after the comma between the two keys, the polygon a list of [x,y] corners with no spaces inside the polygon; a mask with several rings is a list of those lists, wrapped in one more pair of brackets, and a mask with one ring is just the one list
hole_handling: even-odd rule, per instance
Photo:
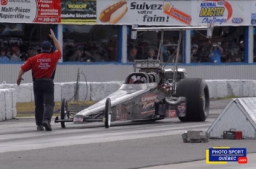
{"label": "long silver and black dragster with huge rear tires", "polygon": [[164,69],[161,59],[134,61],[134,72],[119,90],[78,113],[68,111],[68,102],[63,98],[60,118],[56,117],[55,123],[65,128],[67,122],[102,122],[109,128],[112,122],[127,120],[177,117],[181,122],[205,121],[210,102],[206,81],[187,77],[186,69],[177,67],[177,59],[174,69]]}

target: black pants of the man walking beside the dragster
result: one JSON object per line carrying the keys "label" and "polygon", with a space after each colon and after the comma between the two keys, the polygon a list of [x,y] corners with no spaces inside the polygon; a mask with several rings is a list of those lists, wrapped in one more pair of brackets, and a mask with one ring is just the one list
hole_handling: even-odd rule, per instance
{"label": "black pants of the man walking beside the dragster", "polygon": [[51,120],[54,108],[54,83],[51,79],[37,79],[33,82],[36,125]]}

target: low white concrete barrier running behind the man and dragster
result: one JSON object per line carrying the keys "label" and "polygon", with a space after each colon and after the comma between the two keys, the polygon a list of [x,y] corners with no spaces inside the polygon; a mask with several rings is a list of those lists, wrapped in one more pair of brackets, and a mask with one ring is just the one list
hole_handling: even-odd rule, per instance
{"label": "low white concrete barrier running behind the man and dragster", "polygon": [[[256,80],[206,80],[211,98],[255,97]],[[112,82],[55,83],[55,101],[70,100],[99,101],[115,92],[122,85]],[[76,95],[76,96],[75,96]],[[33,84],[0,84],[0,121],[16,117],[16,102],[33,102]]]}

